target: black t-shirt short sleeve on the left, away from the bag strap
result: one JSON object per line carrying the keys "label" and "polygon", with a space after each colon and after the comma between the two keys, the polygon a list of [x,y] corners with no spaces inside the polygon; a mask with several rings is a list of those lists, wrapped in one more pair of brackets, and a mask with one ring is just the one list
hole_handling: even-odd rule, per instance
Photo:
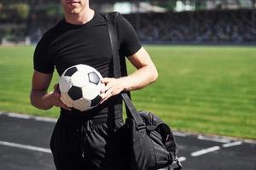
{"label": "black t-shirt short sleeve on the left, away from the bag strap", "polygon": [[49,42],[47,38],[43,36],[38,42],[38,45],[34,52],[34,70],[43,72],[46,74],[51,74],[54,71],[55,66],[50,61],[49,57]]}

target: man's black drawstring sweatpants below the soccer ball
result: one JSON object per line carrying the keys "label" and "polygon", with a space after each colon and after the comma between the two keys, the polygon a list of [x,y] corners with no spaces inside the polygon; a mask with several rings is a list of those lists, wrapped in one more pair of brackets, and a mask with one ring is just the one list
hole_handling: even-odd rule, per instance
{"label": "man's black drawstring sweatpants below the soccer ball", "polygon": [[129,170],[122,118],[61,114],[50,140],[57,170]]}

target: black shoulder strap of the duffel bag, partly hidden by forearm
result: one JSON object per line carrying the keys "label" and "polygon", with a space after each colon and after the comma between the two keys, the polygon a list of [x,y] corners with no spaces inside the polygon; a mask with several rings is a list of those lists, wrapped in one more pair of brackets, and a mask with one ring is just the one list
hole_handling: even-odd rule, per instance
{"label": "black shoulder strap of the duffel bag, partly hidden by forearm", "polygon": [[[108,13],[105,14],[105,19],[108,23],[108,34],[110,38],[111,43],[111,49],[112,49],[112,55],[113,55],[113,76],[115,78],[121,77],[121,67],[120,67],[120,59],[118,54],[118,36],[117,36],[117,30],[115,27],[115,19],[119,15],[118,12]],[[125,101],[126,106],[126,114],[128,117],[132,117],[137,125],[137,129],[145,128],[145,123],[143,122],[142,118],[139,116],[135,106],[131,103],[131,99],[128,96],[127,93],[121,94],[122,98]]]}

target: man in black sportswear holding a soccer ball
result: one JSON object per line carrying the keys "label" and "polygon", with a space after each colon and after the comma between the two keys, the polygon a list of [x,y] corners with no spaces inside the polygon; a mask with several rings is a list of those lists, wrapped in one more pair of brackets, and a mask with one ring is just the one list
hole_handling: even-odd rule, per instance
{"label": "man in black sportswear holding a soccer ball", "polygon": [[[137,90],[154,82],[157,71],[129,22],[119,15],[116,26],[119,56],[137,68],[113,78],[107,22],[92,10],[89,0],[61,0],[65,20],[44,34],[34,53],[31,103],[38,109],[61,108],[50,141],[57,170],[129,169],[119,127],[123,125],[121,91]],[[59,75],[77,64],[100,71],[105,87],[96,108],[80,112],[61,103],[58,86],[48,92],[54,69]]]}

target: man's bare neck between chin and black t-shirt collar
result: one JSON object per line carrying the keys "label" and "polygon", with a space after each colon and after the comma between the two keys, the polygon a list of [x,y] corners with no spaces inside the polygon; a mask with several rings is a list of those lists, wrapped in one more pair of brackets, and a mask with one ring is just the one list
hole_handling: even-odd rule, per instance
{"label": "man's bare neck between chin and black t-shirt collar", "polygon": [[65,20],[73,25],[83,25],[90,21],[94,16],[95,11],[91,8],[84,9],[79,14],[67,14],[65,13]]}

